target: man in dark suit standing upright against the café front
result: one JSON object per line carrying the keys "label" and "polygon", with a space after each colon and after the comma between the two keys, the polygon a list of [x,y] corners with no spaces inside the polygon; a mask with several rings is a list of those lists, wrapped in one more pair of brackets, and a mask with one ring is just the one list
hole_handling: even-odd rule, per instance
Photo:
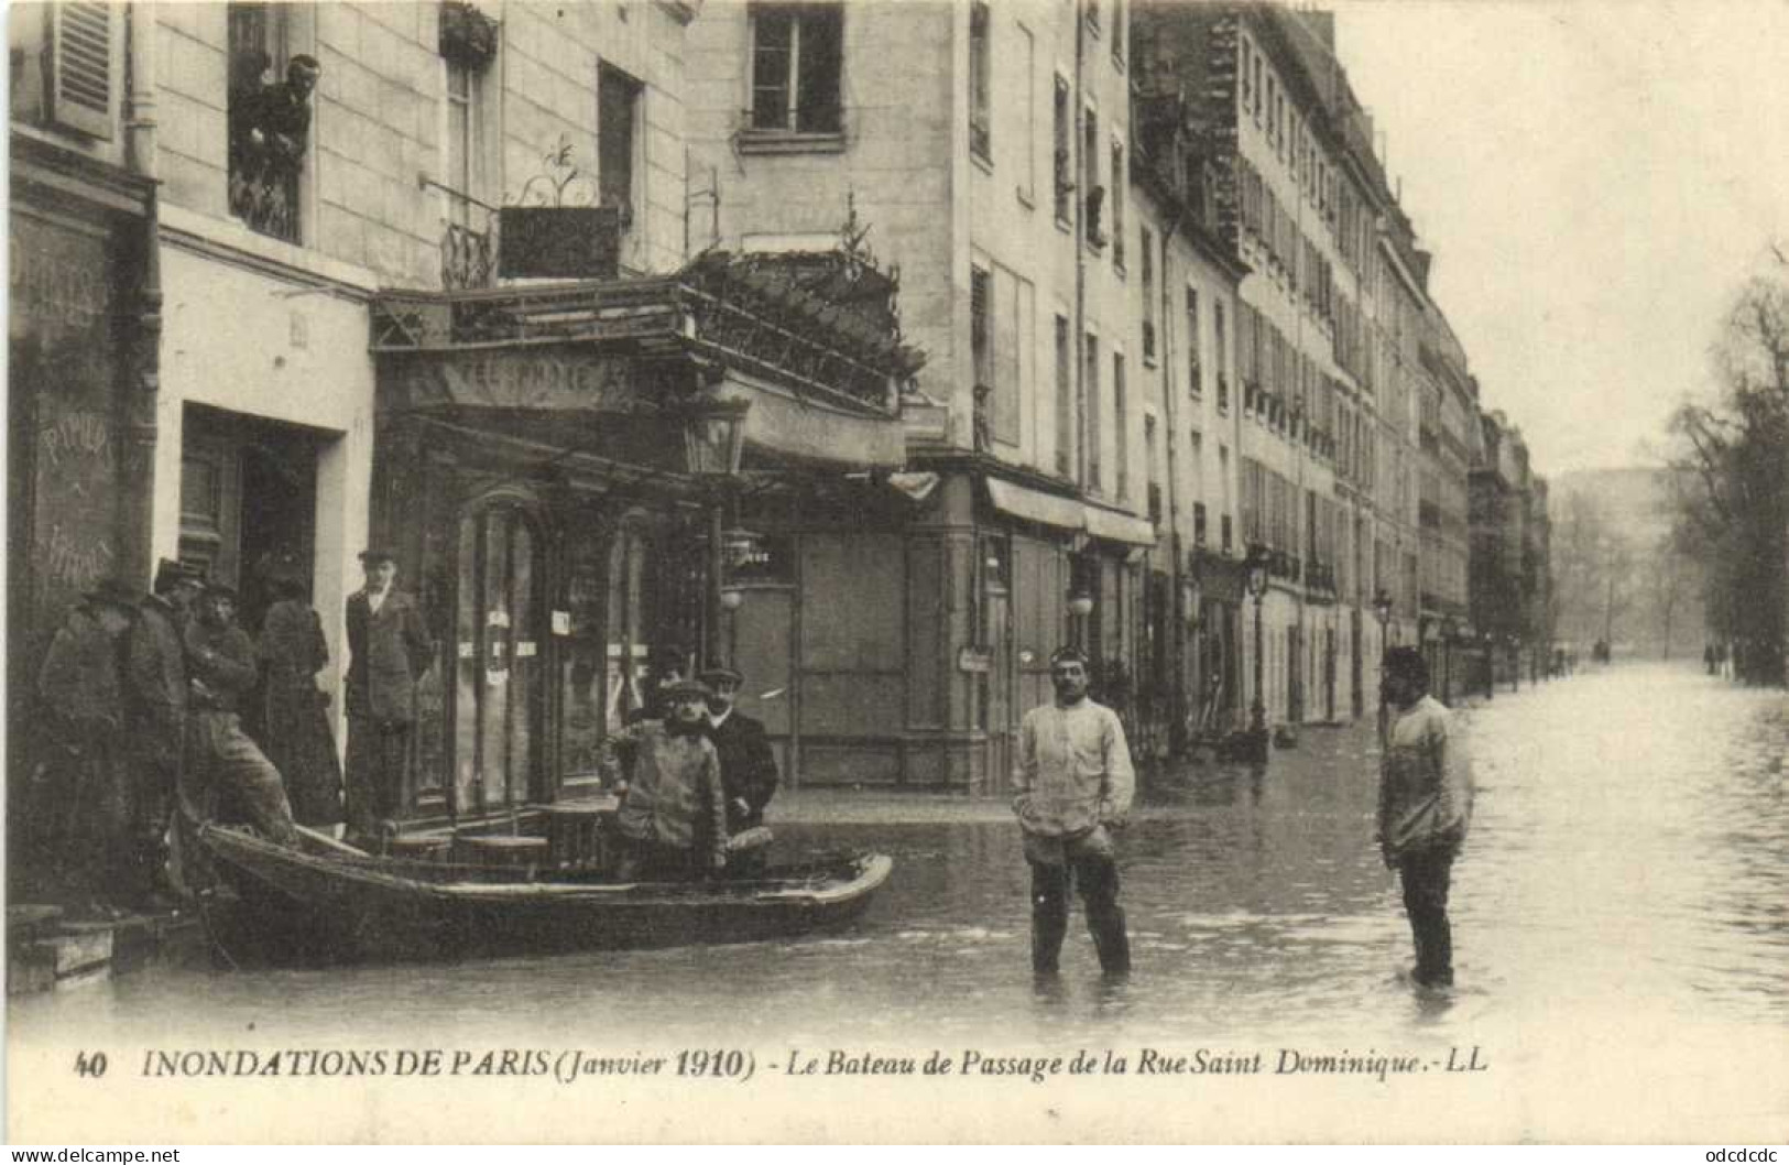
{"label": "man in dark suit standing upright against the caf\u00e9 front", "polygon": [[431,646],[415,598],[399,591],[397,557],[360,557],[367,585],[347,600],[347,829],[369,843],[397,816],[417,719],[417,680]]}

